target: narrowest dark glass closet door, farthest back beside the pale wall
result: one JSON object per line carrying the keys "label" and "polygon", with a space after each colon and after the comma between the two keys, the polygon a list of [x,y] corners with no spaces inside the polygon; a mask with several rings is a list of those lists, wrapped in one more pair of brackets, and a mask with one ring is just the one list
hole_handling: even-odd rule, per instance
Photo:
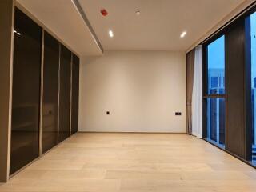
{"label": "narrowest dark glass closet door, farthest back beside the pale wall", "polygon": [[73,54],[71,134],[78,132],[78,105],[79,105],[79,58]]}

